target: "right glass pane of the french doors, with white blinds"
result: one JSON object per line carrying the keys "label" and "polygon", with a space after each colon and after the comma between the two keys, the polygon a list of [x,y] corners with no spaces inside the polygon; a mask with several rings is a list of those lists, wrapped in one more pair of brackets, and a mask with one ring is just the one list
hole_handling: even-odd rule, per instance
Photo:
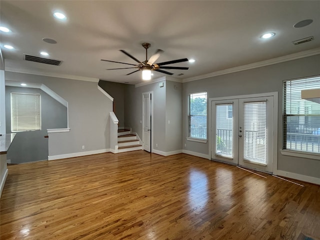
{"label": "right glass pane of the french doors, with white blinds", "polygon": [[266,101],[243,104],[243,159],[266,164]]}

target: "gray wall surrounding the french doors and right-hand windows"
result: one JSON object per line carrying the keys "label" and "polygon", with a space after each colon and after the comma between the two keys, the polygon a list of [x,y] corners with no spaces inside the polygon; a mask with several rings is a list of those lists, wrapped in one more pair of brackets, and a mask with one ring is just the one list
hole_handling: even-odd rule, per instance
{"label": "gray wall surrounding the french doors and right-hand windows", "polygon": [[320,161],[281,155],[282,149],[282,82],[320,74],[320,55],[281,62],[269,66],[234,72],[183,83],[183,143],[187,150],[208,154],[208,143],[186,141],[187,94],[206,90],[208,98],[244,95],[263,92],[278,92],[278,169],[302,175],[320,177]]}

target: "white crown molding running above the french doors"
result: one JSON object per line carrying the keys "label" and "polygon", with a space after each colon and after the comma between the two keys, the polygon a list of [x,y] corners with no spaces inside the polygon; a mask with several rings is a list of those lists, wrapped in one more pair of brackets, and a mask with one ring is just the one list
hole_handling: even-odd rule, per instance
{"label": "white crown molding running above the french doors", "polygon": [[280,62],[295,60],[295,59],[299,59],[299,58],[303,58],[303,57],[307,57],[307,56],[312,56],[312,55],[317,55],[317,54],[320,54],[320,47],[313,48],[313,49],[306,50],[306,51],[295,52],[295,53],[285,55],[285,56],[275,57],[275,58],[271,58],[268,60],[257,61],[257,62],[246,64],[246,65],[235,66],[235,67],[223,69],[220,71],[213,71],[213,72],[198,75],[198,76],[183,78],[182,82],[195,81],[195,80],[200,80],[200,79],[204,79],[204,78],[208,78],[208,77],[224,75],[224,74],[228,74],[228,73],[232,73],[232,72],[244,71],[244,70],[248,70],[248,69],[252,69],[252,68],[273,65],[276,63],[280,63]]}

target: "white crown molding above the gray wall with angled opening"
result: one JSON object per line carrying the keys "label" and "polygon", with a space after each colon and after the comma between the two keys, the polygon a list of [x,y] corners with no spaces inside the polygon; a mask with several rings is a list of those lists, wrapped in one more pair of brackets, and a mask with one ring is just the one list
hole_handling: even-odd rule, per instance
{"label": "white crown molding above the gray wall with angled opening", "polygon": [[60,73],[53,73],[53,72],[32,71],[32,70],[27,70],[27,69],[15,69],[15,68],[10,68],[10,67],[5,67],[4,70],[18,72],[18,73],[41,75],[41,76],[51,76],[51,77],[74,79],[74,80],[81,80],[81,81],[93,81],[93,82],[99,81],[99,78],[96,78],[96,77],[77,76],[77,75],[60,74]]}

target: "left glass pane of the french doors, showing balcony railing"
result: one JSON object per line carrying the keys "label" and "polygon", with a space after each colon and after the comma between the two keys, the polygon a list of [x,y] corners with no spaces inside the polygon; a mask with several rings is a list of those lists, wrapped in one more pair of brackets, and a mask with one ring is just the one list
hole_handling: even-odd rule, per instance
{"label": "left glass pane of the french doors, showing balcony railing", "polygon": [[233,157],[233,105],[216,104],[215,154]]}

